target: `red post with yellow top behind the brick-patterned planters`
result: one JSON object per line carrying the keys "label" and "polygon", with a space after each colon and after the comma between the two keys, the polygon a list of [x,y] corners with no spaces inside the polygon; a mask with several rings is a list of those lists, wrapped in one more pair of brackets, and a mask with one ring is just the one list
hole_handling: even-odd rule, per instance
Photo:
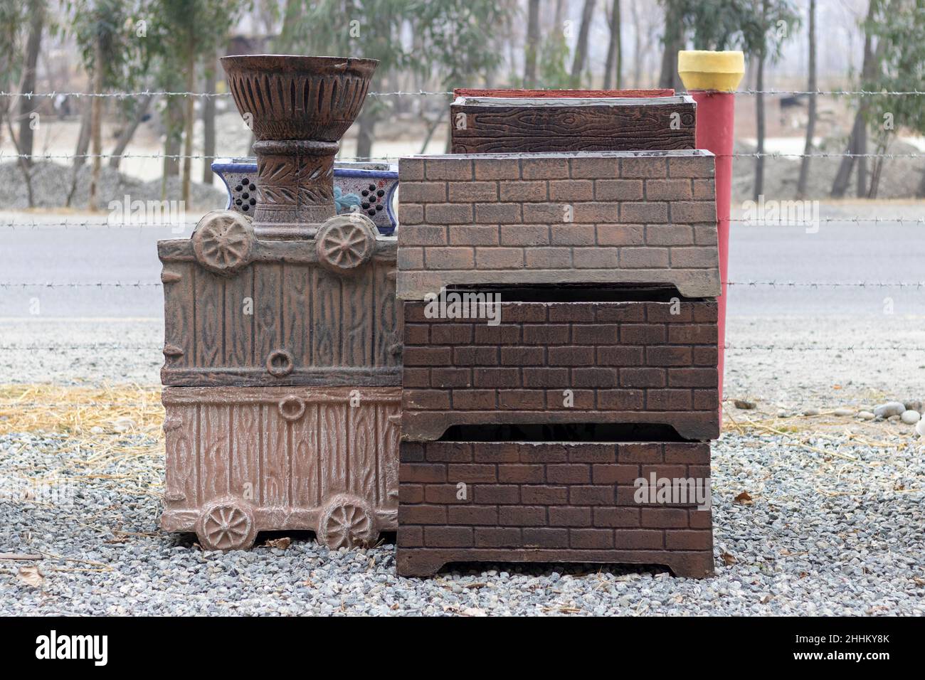
{"label": "red post with yellow top behind the brick-patterned planters", "polygon": [[697,102],[697,149],[716,155],[716,221],[720,246],[719,370],[722,422],[723,347],[726,342],[726,281],[729,272],[729,208],[733,191],[735,94],[745,74],[741,52],[685,50],[678,53],[678,74]]}

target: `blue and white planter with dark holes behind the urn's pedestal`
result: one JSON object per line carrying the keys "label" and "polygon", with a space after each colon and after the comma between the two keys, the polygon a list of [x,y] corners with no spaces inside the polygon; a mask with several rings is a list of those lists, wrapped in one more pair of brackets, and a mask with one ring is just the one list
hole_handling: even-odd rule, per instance
{"label": "blue and white planter with dark holes behind the urn's pedestal", "polygon": [[[257,161],[254,158],[216,158],[212,171],[228,189],[228,210],[253,215],[257,205]],[[379,233],[389,236],[398,226],[395,194],[398,166],[388,163],[334,162],[334,203],[338,214],[363,212]]]}

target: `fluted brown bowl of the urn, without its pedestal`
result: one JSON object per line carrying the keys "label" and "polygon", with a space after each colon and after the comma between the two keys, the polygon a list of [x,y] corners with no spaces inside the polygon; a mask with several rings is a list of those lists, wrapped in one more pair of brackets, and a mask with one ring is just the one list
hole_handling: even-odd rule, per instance
{"label": "fluted brown bowl of the urn, without its pedestal", "polygon": [[338,142],[360,113],[378,63],[340,56],[222,57],[228,88],[258,142]]}

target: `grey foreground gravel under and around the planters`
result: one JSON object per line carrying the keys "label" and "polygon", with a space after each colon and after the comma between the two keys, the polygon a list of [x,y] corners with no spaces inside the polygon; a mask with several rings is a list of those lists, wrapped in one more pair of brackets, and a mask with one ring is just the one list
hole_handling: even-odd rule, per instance
{"label": "grey foreground gravel under and around the planters", "polygon": [[[921,447],[810,437],[814,451],[802,439],[727,432],[715,444],[713,578],[509,564],[421,580],[395,574],[388,543],[203,552],[157,529],[156,456],[113,457],[91,476],[64,438],[4,436],[7,478],[68,477],[76,493],[71,505],[0,504],[4,550],[55,556],[34,563],[39,586],[17,576],[33,563],[0,562],[0,614],[925,613]],[[734,501],[742,491],[752,504]]]}

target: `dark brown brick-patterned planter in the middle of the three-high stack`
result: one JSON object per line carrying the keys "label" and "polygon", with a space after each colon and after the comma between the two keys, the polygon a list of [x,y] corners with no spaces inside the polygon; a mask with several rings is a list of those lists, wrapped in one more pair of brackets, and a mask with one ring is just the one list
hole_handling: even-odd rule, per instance
{"label": "dark brown brick-patterned planter in the middle of the three-high stack", "polygon": [[553,423],[719,436],[715,301],[500,297],[497,326],[428,318],[425,303],[404,303],[402,439],[439,439],[456,425]]}

